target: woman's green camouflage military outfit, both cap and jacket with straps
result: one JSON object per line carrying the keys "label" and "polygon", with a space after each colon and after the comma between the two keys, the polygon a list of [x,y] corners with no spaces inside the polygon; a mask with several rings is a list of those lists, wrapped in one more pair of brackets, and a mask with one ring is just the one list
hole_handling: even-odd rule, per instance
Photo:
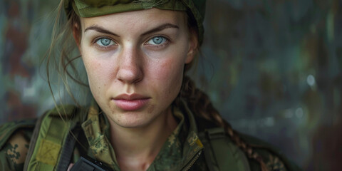
{"label": "woman's green camouflage military outfit, both cap and jacket with straps", "polygon": [[[68,17],[72,11],[81,17],[151,8],[188,11],[197,22],[199,43],[203,40],[205,0],[66,0],[64,8]],[[194,115],[186,103],[172,106],[172,113],[177,128],[148,171],[260,170],[259,163],[247,158],[222,128]],[[69,105],[51,110],[39,120],[6,123],[0,128],[0,170],[66,170],[86,155],[120,170],[108,125],[95,103],[86,110]],[[242,139],[263,157],[269,170],[297,170],[264,142],[245,135]]]}

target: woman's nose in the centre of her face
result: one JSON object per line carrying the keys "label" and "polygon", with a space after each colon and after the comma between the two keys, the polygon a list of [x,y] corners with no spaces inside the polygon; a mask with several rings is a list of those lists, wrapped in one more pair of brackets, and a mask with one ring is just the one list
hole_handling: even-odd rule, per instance
{"label": "woman's nose in the centre of her face", "polygon": [[118,57],[118,81],[127,84],[138,83],[143,78],[142,56],[134,47],[124,48]]}

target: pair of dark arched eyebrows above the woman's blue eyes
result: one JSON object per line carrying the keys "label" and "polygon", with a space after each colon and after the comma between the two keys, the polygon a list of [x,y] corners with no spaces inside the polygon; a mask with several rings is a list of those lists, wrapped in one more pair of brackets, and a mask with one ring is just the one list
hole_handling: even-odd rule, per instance
{"label": "pair of dark arched eyebrows above the woman's blue eyes", "polygon": [[[165,30],[166,28],[177,28],[178,29],[179,27],[175,24],[162,24],[160,26],[157,26],[156,28],[152,28],[150,31],[146,31],[145,33],[142,33],[142,36],[145,36],[145,35],[150,34],[150,33],[155,33],[158,31],[162,31],[162,30]],[[90,27],[86,28],[84,30],[84,32],[89,31],[89,30],[98,31],[100,33],[106,33],[106,34],[111,34],[113,36],[120,37],[117,34],[111,32],[111,31],[108,31],[105,28],[103,28],[101,26],[97,26],[97,25],[90,26]]]}

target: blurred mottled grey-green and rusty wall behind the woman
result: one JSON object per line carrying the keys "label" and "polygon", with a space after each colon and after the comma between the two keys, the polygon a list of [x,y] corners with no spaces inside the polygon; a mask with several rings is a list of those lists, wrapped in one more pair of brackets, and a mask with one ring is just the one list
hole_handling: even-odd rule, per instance
{"label": "blurred mottled grey-green and rusty wall behind the woman", "polygon": [[[53,108],[53,0],[0,0],[0,123]],[[242,133],[304,170],[341,170],[342,1],[210,0],[195,80]]]}

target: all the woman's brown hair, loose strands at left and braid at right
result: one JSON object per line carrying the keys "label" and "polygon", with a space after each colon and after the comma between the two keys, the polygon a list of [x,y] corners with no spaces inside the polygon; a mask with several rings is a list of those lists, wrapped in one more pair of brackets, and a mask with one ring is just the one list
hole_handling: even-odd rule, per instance
{"label": "all the woman's brown hair, loose strands at left and braid at right", "polygon": [[[81,104],[79,103],[80,98],[76,98],[76,95],[72,93],[71,86],[68,84],[68,78],[70,78],[71,81],[77,83],[78,85],[81,85],[83,88],[86,88],[86,90],[88,90],[88,93],[90,92],[88,85],[84,83],[85,81],[82,78],[82,74],[80,74],[80,71],[78,71],[78,68],[73,63],[74,61],[76,61],[76,59],[78,59],[81,56],[76,55],[76,57],[72,57],[73,50],[75,50],[76,48],[76,43],[74,41],[80,41],[74,40],[73,36],[71,36],[72,28],[76,24],[80,26],[79,29],[81,29],[80,19],[74,11],[71,11],[71,13],[68,14],[67,20],[66,18],[62,19],[61,17],[63,15],[61,15],[61,11],[63,11],[63,0],[61,1],[57,9],[57,17],[53,27],[53,38],[51,48],[49,49],[48,54],[45,58],[48,85],[53,95],[53,100],[55,100],[57,110],[58,105],[56,103],[56,99],[53,94],[53,88],[51,86],[51,65],[53,68],[55,68],[55,70],[53,71],[56,71],[56,73],[58,73],[58,81],[59,79],[61,79],[66,88],[66,92],[68,93],[68,95],[71,96],[73,102],[76,105],[78,105],[78,107],[81,108]],[[199,31],[197,28],[195,18],[189,11],[187,11],[187,16],[188,27],[190,28],[190,32],[196,33],[198,37]],[[81,31],[78,31],[78,33],[81,34]],[[78,38],[81,38],[81,35],[78,35]],[[66,43],[72,41],[74,42],[73,46],[69,43]],[[55,58],[53,58],[53,56]],[[185,65],[185,73],[189,71],[189,69],[192,67],[192,64],[196,63],[196,61],[197,58],[195,58],[195,60],[192,60],[191,63]],[[219,112],[214,108],[211,101],[209,100],[208,95],[204,93],[202,90],[196,88],[194,81],[192,81],[189,77],[184,76],[182,81],[182,89],[180,91],[180,95],[178,95],[177,98],[185,99],[188,107],[190,108],[190,110],[192,110],[193,113],[195,113],[195,115],[198,115],[199,117],[205,118],[207,120],[211,120],[216,125],[224,128],[227,135],[230,138],[232,138],[233,142],[247,154],[247,157],[257,160],[257,162],[259,162],[261,166],[262,171],[268,170],[262,157],[257,152],[254,152],[252,147],[248,145],[247,142],[244,142],[244,140],[240,139],[239,134],[232,129],[232,126],[229,125],[229,123],[227,123],[227,121],[224,120],[221,115],[219,115]],[[58,112],[60,113],[61,118],[63,119],[63,115],[61,114],[65,113],[63,107],[61,108],[61,110],[58,110]]]}

